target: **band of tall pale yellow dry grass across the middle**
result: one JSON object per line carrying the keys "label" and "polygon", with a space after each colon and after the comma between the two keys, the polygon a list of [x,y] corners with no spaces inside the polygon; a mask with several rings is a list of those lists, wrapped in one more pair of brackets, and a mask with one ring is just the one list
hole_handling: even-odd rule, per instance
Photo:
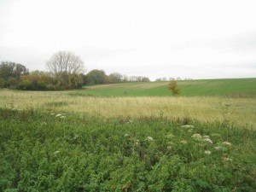
{"label": "band of tall pale yellow dry grass across the middle", "polygon": [[[230,106],[226,106],[229,104]],[[201,121],[229,120],[256,128],[256,98],[193,97],[89,97],[69,96],[68,91],[0,90],[1,108],[41,108],[49,112],[79,112],[104,117],[135,118],[163,113],[171,118]]]}

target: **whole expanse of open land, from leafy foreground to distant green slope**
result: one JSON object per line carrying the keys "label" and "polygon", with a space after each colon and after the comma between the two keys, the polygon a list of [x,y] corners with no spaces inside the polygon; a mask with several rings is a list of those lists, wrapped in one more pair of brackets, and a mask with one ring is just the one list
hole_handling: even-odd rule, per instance
{"label": "whole expanse of open land, from leafy foreground to distant green slope", "polygon": [[255,79],[199,81],[0,90],[0,191],[255,191]]}

